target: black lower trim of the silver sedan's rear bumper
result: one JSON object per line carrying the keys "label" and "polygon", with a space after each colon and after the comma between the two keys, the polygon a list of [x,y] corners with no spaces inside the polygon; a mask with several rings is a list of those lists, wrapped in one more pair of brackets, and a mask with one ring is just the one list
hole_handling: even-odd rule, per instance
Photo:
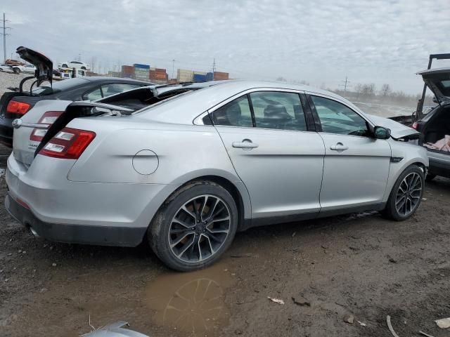
{"label": "black lower trim of the silver sedan's rear bumper", "polygon": [[70,244],[98,244],[101,246],[137,246],[146,232],[142,227],[110,227],[46,223],[39,220],[30,209],[6,194],[6,210],[23,225],[29,226],[39,237],[54,242]]}

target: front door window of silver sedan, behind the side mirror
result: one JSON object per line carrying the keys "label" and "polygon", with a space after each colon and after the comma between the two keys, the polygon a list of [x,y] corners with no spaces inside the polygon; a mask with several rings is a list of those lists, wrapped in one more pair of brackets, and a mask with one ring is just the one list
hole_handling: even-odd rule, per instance
{"label": "front door window of silver sedan, behind the side mirror", "polygon": [[329,100],[328,98],[312,96],[311,98],[319,114],[322,131],[340,135],[368,136],[366,121],[349,107]]}

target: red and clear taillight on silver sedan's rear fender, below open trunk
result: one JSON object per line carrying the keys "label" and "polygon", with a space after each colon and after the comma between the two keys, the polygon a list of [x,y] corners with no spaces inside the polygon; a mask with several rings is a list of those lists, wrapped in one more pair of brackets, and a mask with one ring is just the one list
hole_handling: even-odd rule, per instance
{"label": "red and clear taillight on silver sedan's rear fender, below open trunk", "polygon": [[49,140],[39,154],[55,158],[78,159],[95,137],[96,133],[92,131],[63,128]]}

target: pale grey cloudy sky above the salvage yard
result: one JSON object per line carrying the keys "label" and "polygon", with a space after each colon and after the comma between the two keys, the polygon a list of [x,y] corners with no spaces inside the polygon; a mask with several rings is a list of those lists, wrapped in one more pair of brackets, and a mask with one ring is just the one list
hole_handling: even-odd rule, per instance
{"label": "pale grey cloudy sky above the salvage yard", "polygon": [[176,73],[210,71],[215,58],[233,78],[338,88],[347,76],[419,93],[428,55],[450,53],[449,0],[4,0],[0,9],[13,28],[8,57],[29,46],[55,63],[81,55],[96,71],[139,62],[171,76],[173,59]]}

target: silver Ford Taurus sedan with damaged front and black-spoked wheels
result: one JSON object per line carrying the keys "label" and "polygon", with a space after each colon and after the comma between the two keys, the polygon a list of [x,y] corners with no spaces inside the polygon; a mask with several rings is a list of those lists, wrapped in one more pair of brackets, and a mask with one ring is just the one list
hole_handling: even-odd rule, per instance
{"label": "silver Ford Taurus sedan with damaged front and black-spoked wheels", "polygon": [[[39,127],[25,117],[15,133]],[[31,163],[8,158],[6,208],[47,239],[145,239],[167,266],[195,270],[253,226],[365,210],[409,218],[428,167],[406,141],[416,134],[276,82],[224,81],[136,112],[72,103]]]}

